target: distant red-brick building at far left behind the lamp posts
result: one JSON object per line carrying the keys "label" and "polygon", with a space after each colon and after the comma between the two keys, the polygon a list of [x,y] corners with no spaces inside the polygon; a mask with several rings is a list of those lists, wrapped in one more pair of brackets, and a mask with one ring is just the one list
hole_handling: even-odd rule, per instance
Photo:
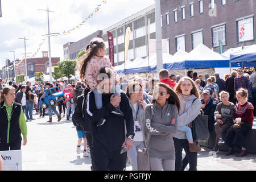
{"label": "distant red-brick building at far left behind the lamp posts", "polygon": [[[51,57],[52,67],[57,66],[60,61],[60,57]],[[16,75],[25,74],[25,59],[16,63]],[[48,52],[43,51],[42,57],[27,58],[27,76],[28,78],[34,77],[36,72],[49,73],[49,57]]]}

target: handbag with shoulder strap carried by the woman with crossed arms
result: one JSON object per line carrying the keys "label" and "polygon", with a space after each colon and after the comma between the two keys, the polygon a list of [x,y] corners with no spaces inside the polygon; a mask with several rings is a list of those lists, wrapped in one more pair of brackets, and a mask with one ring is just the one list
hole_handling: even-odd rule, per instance
{"label": "handbag with shoulder strap carried by the woman with crossed arms", "polygon": [[[152,110],[152,105],[151,105],[151,121],[152,121],[152,115],[154,115],[153,110]],[[149,135],[148,141],[147,141],[147,146],[146,148],[142,148],[142,150],[138,150],[138,155],[137,155],[137,164],[138,164],[138,171],[150,171],[150,139],[151,135]]]}

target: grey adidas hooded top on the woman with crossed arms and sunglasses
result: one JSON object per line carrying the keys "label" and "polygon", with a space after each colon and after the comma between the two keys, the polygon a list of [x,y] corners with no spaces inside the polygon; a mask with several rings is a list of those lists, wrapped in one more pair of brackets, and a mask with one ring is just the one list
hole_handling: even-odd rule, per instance
{"label": "grey adidas hooded top on the woman with crossed arms and sunglasses", "polygon": [[[178,110],[176,105],[164,105],[163,109],[157,102],[152,104],[153,115],[151,118],[151,104],[146,105],[144,127],[147,135],[151,135],[150,139],[150,158],[159,158],[174,160],[175,150],[172,135],[177,132]],[[171,124],[171,119],[175,118],[174,125]],[[148,137],[147,137],[148,141]]]}

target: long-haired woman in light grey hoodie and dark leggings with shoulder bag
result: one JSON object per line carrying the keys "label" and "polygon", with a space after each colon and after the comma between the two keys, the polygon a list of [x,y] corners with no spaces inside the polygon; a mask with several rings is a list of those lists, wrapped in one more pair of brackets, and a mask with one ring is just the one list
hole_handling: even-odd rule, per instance
{"label": "long-haired woman in light grey hoodie and dark leggings with shoulder bag", "polygon": [[[176,86],[176,94],[180,99],[180,116],[178,118],[179,127],[188,126],[200,113],[201,102],[199,100],[199,91],[195,82],[189,77],[183,77]],[[196,171],[197,152],[189,151],[189,143],[186,134],[177,131],[174,135],[175,146],[175,171],[184,170],[189,163],[189,170]],[[185,150],[186,156],[182,160],[182,150]]]}

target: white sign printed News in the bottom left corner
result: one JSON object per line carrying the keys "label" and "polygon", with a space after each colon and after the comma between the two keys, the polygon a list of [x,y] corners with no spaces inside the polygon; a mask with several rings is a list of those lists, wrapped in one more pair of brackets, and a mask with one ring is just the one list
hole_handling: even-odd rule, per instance
{"label": "white sign printed News in the bottom left corner", "polygon": [[0,151],[3,171],[22,171],[22,151]]}

